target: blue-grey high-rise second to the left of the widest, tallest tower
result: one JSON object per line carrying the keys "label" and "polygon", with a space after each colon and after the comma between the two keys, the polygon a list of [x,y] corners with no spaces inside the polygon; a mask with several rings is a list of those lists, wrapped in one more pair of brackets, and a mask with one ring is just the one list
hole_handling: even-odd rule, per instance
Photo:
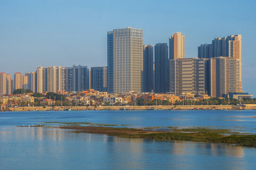
{"label": "blue-grey high-rise second to the left of the widest, tallest tower", "polygon": [[83,91],[89,88],[89,70],[87,66],[73,65],[73,91]]}

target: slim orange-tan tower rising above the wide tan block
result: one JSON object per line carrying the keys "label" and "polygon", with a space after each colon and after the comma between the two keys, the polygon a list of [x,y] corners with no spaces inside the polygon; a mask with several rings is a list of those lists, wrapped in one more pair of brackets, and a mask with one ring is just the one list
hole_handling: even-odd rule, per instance
{"label": "slim orange-tan tower rising above the wide tan block", "polygon": [[173,33],[169,38],[169,59],[184,59],[185,57],[185,35]]}

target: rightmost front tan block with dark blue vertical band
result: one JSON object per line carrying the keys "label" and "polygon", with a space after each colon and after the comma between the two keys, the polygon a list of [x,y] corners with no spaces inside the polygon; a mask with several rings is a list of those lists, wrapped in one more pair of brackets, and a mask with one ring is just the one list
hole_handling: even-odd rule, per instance
{"label": "rightmost front tan block with dark blue vertical band", "polygon": [[211,58],[211,86],[212,97],[222,97],[223,94],[237,92],[237,59],[232,57]]}

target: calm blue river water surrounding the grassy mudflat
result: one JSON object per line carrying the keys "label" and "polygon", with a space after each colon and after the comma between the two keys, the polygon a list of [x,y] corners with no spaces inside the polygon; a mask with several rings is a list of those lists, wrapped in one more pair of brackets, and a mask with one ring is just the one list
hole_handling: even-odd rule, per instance
{"label": "calm blue river water surrounding the grassy mudflat", "polygon": [[[0,112],[0,170],[254,170],[256,148],[72,133],[43,122],[213,127],[256,134],[255,110]],[[121,127],[121,126],[120,126]]]}

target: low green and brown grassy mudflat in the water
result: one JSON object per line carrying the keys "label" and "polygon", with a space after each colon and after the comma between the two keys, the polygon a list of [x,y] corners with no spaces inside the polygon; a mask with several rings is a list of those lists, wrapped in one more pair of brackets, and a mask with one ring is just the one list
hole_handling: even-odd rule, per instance
{"label": "low green and brown grassy mudflat in the water", "polygon": [[[91,127],[91,126],[63,126],[63,129],[73,129],[75,133],[94,133],[105,134],[110,136],[129,137],[129,138],[148,138],[160,140],[187,140],[195,142],[211,142],[239,144],[241,146],[256,147],[256,135],[243,135],[239,132],[232,132],[228,129],[205,129],[205,128],[188,128],[178,129],[170,127],[172,132],[149,131],[137,128],[126,127]],[[175,130],[177,129],[177,131]],[[191,132],[193,131],[193,132]],[[223,135],[222,133],[229,133]]]}

